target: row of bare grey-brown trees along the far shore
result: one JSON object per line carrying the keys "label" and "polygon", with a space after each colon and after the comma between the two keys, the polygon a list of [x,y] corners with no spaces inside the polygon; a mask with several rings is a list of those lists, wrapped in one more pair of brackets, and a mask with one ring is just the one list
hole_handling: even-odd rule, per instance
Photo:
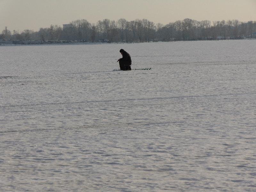
{"label": "row of bare grey-brown trees along the far shore", "polygon": [[148,19],[99,20],[96,24],[85,19],[63,27],[51,25],[39,31],[26,29],[19,33],[5,28],[0,39],[37,40],[40,42],[73,40],[78,42],[150,42],[256,38],[256,21],[184,19],[166,25]]}

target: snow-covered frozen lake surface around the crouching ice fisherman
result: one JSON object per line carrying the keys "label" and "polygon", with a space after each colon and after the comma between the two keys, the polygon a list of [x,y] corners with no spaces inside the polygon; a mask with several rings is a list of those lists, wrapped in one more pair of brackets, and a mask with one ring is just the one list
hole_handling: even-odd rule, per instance
{"label": "snow-covered frozen lake surface around the crouching ice fisherman", "polygon": [[0,46],[0,191],[255,192],[255,50]]}

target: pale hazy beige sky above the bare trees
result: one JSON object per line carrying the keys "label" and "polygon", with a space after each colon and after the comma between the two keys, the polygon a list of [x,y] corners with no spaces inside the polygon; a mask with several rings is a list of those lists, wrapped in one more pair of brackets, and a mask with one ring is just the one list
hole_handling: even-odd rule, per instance
{"label": "pale hazy beige sky above the bare trees", "polygon": [[256,21],[256,0],[0,0],[0,32],[46,28],[77,19],[128,21],[148,19],[168,24],[194,20]]}

